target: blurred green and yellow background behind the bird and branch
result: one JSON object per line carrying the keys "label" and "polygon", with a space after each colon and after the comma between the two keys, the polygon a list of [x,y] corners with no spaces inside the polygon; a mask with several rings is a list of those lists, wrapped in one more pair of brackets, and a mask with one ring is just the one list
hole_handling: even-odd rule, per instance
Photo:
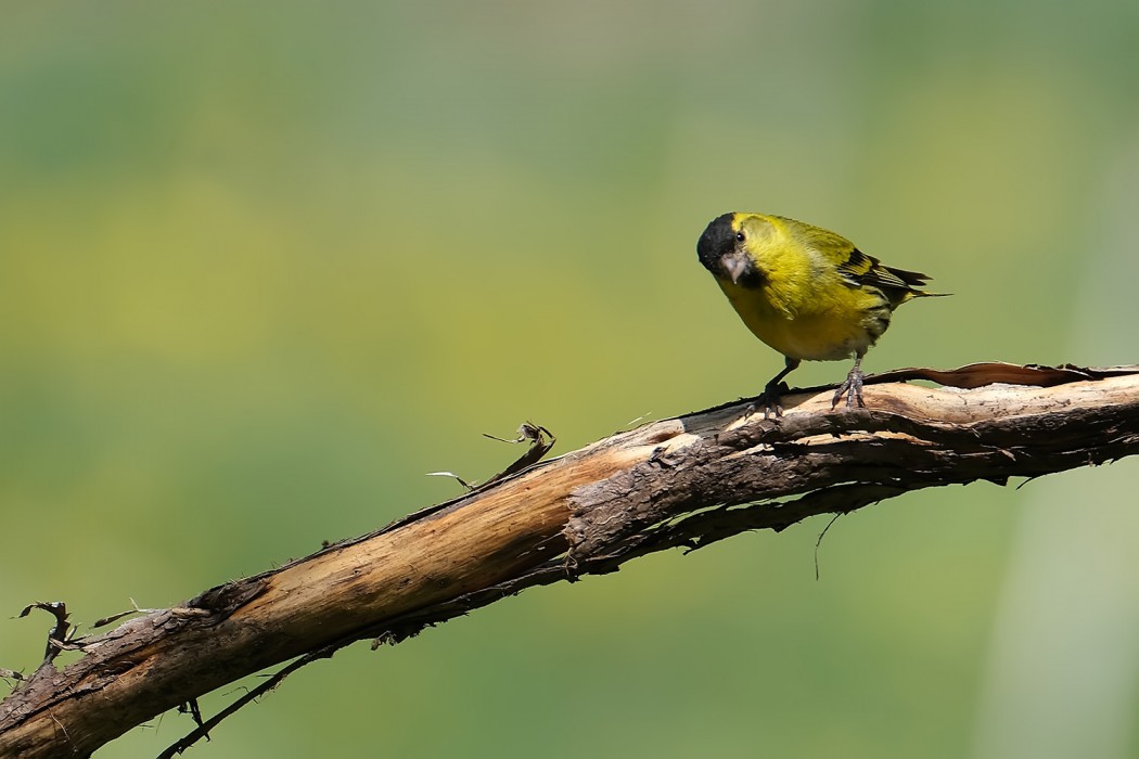
{"label": "blurred green and yellow background behind the bird and branch", "polygon": [[[516,455],[760,390],[713,216],[952,298],[869,371],[1139,360],[1139,5],[0,2],[0,667]],[[838,380],[813,364],[800,385]],[[1139,753],[1136,462],[343,651],[194,756]],[[213,713],[240,686],[203,700]],[[98,756],[153,757],[167,713]]]}

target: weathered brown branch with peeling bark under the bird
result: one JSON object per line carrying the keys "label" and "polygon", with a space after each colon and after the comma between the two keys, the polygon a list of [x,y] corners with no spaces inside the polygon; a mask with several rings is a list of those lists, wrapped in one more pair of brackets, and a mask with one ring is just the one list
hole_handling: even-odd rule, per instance
{"label": "weathered brown branch with peeling bark under the bird", "polygon": [[[920,378],[952,387],[899,381]],[[57,640],[83,655],[63,669],[49,657],[0,702],[0,756],[85,757],[265,667],[395,643],[646,553],[1139,453],[1139,366],[976,364],[868,381],[862,410],[831,411],[829,389],[806,390],[784,397],[778,420],[745,416],[744,401],[620,432],[109,633]]]}

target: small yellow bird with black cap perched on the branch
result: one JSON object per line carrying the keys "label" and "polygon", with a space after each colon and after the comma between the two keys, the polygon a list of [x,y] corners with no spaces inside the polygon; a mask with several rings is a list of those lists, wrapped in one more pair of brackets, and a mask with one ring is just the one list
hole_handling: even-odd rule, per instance
{"label": "small yellow bird with black cap perched on the branch", "polygon": [[883,265],[820,226],[759,213],[727,213],[708,223],[696,254],[755,337],[784,355],[763,389],[763,416],[782,415],[780,382],[803,361],[854,358],[830,409],[865,407],[862,357],[894,310],[918,297],[929,277]]}

